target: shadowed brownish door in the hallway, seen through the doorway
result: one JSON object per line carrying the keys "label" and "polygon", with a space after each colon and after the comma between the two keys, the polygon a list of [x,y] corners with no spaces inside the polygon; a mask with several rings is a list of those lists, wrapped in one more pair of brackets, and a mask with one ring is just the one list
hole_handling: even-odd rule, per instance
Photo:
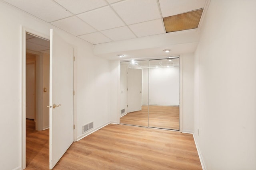
{"label": "shadowed brownish door in the hallway, seen through the doorway", "polygon": [[27,63],[26,67],[26,118],[35,119],[36,113],[36,62]]}

